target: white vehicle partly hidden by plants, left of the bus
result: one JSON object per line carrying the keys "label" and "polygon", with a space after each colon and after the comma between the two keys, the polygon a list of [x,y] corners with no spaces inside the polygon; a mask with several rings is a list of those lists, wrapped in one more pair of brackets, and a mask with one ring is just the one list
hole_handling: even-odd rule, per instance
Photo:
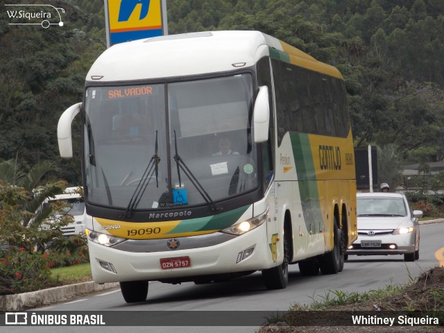
{"label": "white vehicle partly hidden by plants, left of the bus", "polygon": [[42,208],[58,201],[63,201],[65,206],[62,210],[52,213],[48,221],[50,222],[54,217],[71,215],[74,222],[61,228],[63,235],[83,234],[85,232],[85,201],[81,195],[81,187],[67,187],[63,194],[46,198],[42,203]]}

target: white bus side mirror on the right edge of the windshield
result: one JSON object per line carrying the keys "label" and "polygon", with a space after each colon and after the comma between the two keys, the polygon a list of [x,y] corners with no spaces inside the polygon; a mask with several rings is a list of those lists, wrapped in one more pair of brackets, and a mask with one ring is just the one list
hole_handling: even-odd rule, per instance
{"label": "white bus side mirror on the right edge of the windshield", "polygon": [[270,125],[270,103],[268,101],[268,87],[266,85],[259,87],[253,113],[255,142],[266,142]]}

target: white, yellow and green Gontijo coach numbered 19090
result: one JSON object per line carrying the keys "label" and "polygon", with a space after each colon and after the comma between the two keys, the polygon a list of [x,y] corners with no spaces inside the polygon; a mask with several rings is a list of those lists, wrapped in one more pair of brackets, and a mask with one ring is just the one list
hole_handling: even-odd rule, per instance
{"label": "white, yellow and green Gontijo coach numbered 19090", "polygon": [[92,276],[126,302],[150,281],[262,271],[284,289],[289,264],[343,270],[356,179],[334,67],[259,31],[152,37],[97,58],[60,117],[62,157],[77,114]]}

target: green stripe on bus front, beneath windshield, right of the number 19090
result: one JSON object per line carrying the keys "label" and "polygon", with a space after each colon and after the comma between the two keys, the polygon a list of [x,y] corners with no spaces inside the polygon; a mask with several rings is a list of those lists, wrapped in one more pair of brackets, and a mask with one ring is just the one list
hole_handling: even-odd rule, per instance
{"label": "green stripe on bus front, beneath windshield, right of the number 19090", "polygon": [[198,219],[182,220],[180,223],[168,232],[169,234],[178,234],[183,232],[199,232],[207,230],[222,230],[236,223],[239,218],[248,210],[250,205],[230,210],[221,214],[201,217]]}

